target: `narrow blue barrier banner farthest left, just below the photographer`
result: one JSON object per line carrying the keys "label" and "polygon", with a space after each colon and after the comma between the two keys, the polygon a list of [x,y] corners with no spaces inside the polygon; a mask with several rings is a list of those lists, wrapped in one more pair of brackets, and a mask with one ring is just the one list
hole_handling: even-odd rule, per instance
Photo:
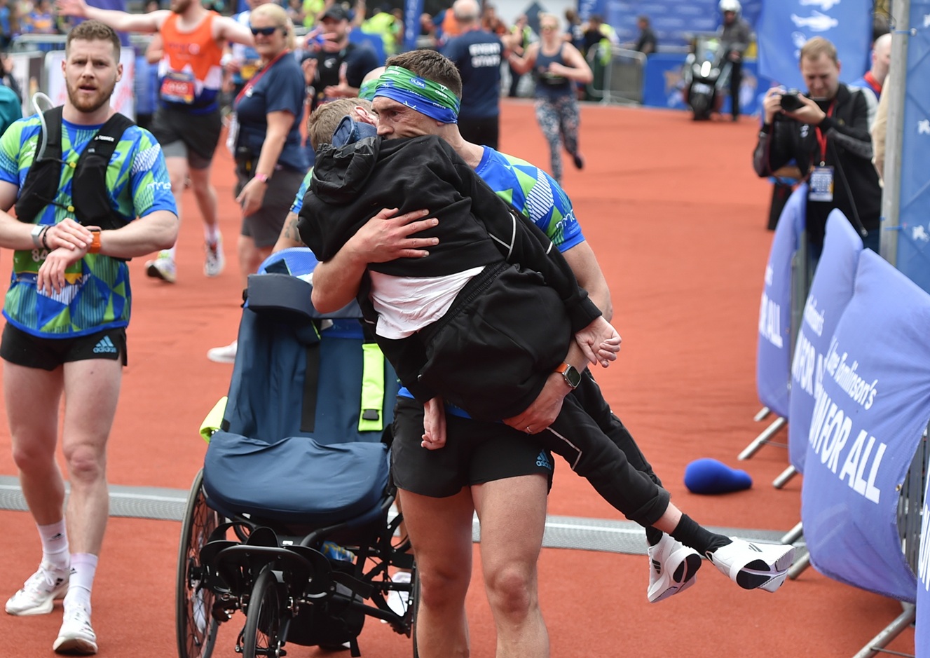
{"label": "narrow blue barrier banner farthest left, just below the photographer", "polygon": [[791,260],[804,231],[807,184],[798,186],[778,218],[759,305],[756,389],[759,400],[787,418],[791,361]]}

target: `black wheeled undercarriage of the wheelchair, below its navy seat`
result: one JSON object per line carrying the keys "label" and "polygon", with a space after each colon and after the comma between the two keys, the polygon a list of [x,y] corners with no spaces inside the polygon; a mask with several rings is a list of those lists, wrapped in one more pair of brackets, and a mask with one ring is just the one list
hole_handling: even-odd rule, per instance
{"label": "black wheeled undercarriage of the wheelchair, below its navy seat", "polygon": [[[175,620],[179,657],[209,658],[219,624],[242,611],[246,623],[235,651],[245,658],[285,656],[292,625],[301,623],[311,628],[304,628],[294,644],[341,649],[347,643],[351,655],[360,656],[358,635],[368,616],[412,637],[417,658],[414,620],[419,581],[409,540],[394,545],[402,517],[387,522],[393,500],[393,494],[385,495],[379,516],[362,528],[352,528],[348,520],[295,533],[280,522],[227,516],[210,507],[203,470],[198,472],[180,534]],[[235,539],[228,539],[230,535]],[[368,541],[352,544],[352,536]],[[320,552],[330,538],[352,550],[352,561],[330,559]],[[409,569],[410,583],[393,583],[389,567]],[[388,606],[392,590],[407,594],[403,614]],[[339,615],[351,618],[347,621]],[[332,626],[337,632],[331,644],[313,637],[314,630]]]}

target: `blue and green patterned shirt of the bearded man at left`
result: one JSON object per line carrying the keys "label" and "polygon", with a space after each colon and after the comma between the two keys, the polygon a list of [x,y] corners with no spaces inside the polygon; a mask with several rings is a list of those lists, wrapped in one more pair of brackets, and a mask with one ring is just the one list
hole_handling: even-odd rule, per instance
{"label": "blue and green patterned shirt of the bearded man at left", "polygon": [[[61,159],[77,163],[87,143],[102,125],[62,121]],[[20,119],[0,138],[0,180],[22,189],[33,164],[41,124],[38,115]],[[73,166],[61,167],[58,204],[72,201]],[[130,126],[113,151],[107,169],[107,189],[116,213],[126,223],[157,210],[178,214],[161,147],[147,130]],[[64,207],[49,204],[37,224],[57,224],[73,217]],[[74,218],[74,217],[73,217]],[[18,250],[4,302],[7,322],[33,336],[86,336],[129,323],[131,292],[126,262],[101,254],[87,254],[65,272],[60,293],[36,290],[36,274],[45,261],[44,249]]]}

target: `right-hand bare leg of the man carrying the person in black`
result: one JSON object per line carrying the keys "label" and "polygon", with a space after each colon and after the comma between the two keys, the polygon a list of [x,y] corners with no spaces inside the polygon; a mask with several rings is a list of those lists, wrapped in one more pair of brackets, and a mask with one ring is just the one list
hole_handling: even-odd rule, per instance
{"label": "right-hand bare leg of the man carrying the person in black", "polygon": [[542,475],[472,486],[481,520],[485,590],[498,631],[497,658],[549,656],[537,579],[548,493]]}

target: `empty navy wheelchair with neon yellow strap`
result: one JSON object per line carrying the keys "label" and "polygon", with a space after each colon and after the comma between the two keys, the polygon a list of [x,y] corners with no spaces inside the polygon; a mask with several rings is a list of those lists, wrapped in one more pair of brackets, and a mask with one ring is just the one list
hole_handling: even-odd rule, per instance
{"label": "empty navy wheelchair with neon yellow strap", "polygon": [[[208,658],[235,612],[245,658],[284,656],[286,643],[359,656],[367,617],[413,636],[417,568],[389,478],[396,375],[354,302],[312,308],[315,263],[286,249],[249,277],[229,394],[201,430],[181,526],[180,658]],[[409,583],[392,581],[398,569]]]}

